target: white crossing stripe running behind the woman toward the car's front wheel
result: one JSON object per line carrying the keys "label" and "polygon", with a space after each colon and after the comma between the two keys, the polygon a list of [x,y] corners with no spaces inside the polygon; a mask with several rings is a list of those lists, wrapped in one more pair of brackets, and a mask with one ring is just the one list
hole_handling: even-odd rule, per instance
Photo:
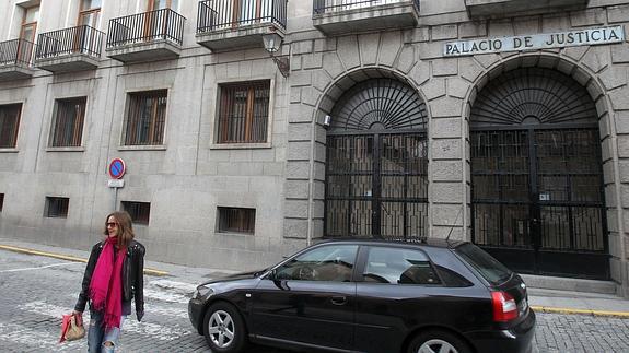
{"label": "white crossing stripe running behind the woman toward the car's front wheel", "polygon": [[[67,309],[67,308],[51,305],[51,304],[46,304],[42,301],[26,303],[26,304],[20,305],[19,308],[23,309],[23,310],[31,311],[31,313],[44,315],[44,316],[57,317],[57,318],[59,318],[59,325],[61,325],[62,315],[69,314],[72,311],[71,309]],[[88,310],[85,313],[83,313],[83,321],[84,322],[90,321],[90,316],[88,313],[89,313]],[[189,326],[187,323],[188,323],[187,321],[183,322],[184,326]],[[151,323],[151,322],[138,322],[135,319],[135,317],[129,318],[128,320],[125,321],[125,323],[123,326],[123,332],[125,332],[125,331],[140,333],[140,334],[144,334],[144,336],[150,336],[151,338],[160,340],[160,341],[172,341],[172,340],[180,338],[182,336],[187,336],[187,334],[193,333],[188,329],[184,329],[184,328],[178,327],[178,325],[175,327],[165,327],[165,326],[161,326],[158,323]]]}

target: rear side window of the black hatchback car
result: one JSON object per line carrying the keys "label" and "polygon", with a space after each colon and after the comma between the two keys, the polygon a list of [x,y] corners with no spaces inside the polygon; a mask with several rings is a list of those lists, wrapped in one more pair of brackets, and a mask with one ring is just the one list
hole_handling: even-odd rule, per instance
{"label": "rear side window of the black hatchback car", "polygon": [[364,282],[441,284],[423,252],[404,248],[371,247],[362,275]]}

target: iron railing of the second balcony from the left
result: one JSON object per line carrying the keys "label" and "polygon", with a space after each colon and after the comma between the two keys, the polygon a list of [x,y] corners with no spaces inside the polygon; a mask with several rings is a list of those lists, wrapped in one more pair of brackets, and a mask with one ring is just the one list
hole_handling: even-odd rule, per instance
{"label": "iron railing of the second balcony from the left", "polygon": [[104,33],[88,25],[39,34],[35,59],[54,58],[70,54],[101,56]]}

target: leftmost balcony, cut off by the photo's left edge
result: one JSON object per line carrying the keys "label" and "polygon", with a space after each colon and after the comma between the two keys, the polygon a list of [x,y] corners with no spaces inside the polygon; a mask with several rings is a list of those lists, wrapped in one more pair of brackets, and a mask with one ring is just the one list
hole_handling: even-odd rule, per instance
{"label": "leftmost balcony, cut off by the photo's left edge", "polygon": [[24,80],[33,77],[34,43],[12,39],[0,43],[0,81]]}

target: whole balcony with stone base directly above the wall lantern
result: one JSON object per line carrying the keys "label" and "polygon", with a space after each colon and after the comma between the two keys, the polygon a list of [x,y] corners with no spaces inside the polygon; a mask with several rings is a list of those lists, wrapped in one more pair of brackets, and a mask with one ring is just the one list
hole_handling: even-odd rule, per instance
{"label": "whole balcony with stone base directly above the wall lantern", "polygon": [[287,0],[199,2],[197,43],[212,51],[263,47],[263,34],[286,27]]}

